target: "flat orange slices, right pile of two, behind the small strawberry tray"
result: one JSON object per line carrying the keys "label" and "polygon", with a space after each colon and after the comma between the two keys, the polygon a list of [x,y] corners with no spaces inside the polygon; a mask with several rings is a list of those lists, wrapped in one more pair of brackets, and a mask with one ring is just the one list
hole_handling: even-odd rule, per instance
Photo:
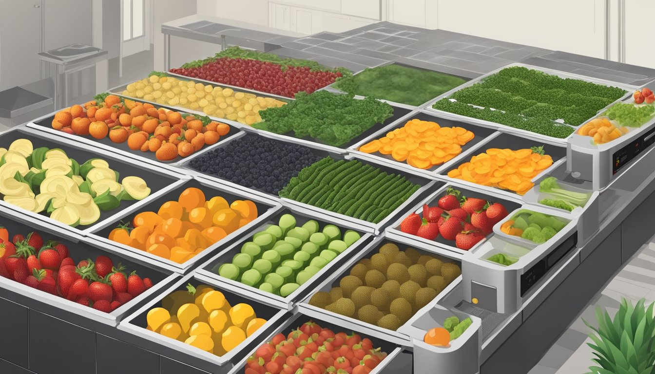
{"label": "flat orange slices, right pile of two, behind the small strawberry tray", "polygon": [[531,180],[552,164],[552,157],[544,155],[543,147],[517,151],[490,148],[449,171],[448,176],[524,195],[534,187]]}

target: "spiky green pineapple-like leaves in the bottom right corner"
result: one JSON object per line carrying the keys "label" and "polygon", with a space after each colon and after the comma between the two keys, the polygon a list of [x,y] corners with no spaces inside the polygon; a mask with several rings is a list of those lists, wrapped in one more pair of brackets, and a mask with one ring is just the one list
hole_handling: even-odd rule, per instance
{"label": "spiky green pineapple-like leaves in the bottom right corner", "polygon": [[598,327],[584,323],[593,331],[587,343],[596,358],[589,367],[593,374],[652,374],[655,373],[655,304],[645,306],[641,299],[633,306],[622,299],[614,320],[607,310],[596,309]]}

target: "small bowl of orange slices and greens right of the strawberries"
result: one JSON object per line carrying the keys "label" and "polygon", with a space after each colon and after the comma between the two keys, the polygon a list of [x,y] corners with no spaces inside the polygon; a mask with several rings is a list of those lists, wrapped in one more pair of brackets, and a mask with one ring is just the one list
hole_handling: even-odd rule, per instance
{"label": "small bowl of orange slices and greens right of the strawberries", "polygon": [[[508,215],[508,218],[494,225],[494,234],[500,238],[528,246],[529,248],[545,244],[555,238],[555,236],[559,236],[559,233],[565,231],[565,227],[571,223],[571,219],[546,212],[523,208],[515,210],[512,214]],[[510,223],[511,221],[514,222]],[[518,230],[521,235],[519,236],[517,233],[510,234],[508,231],[510,228]]]}

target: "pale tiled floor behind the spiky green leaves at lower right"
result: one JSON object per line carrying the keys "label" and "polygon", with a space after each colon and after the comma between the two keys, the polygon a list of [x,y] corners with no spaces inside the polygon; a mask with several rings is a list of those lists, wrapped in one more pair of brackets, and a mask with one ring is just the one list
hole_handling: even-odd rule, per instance
{"label": "pale tiled floor behind the spiky green leaves at lower right", "polygon": [[587,309],[559,337],[529,374],[582,374],[589,373],[594,358],[587,343],[590,331],[583,319],[595,325],[595,308],[607,309],[610,316],[618,310],[621,298],[636,303],[642,297],[646,303],[655,301],[655,236],[650,238],[630,261],[598,293]]}

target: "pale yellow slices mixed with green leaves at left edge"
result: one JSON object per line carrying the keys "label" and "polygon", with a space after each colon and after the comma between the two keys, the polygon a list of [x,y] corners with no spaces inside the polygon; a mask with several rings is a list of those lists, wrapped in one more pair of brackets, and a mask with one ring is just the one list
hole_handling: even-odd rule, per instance
{"label": "pale yellow slices mixed with green leaves at left edge", "polygon": [[143,200],[150,188],[140,177],[119,173],[103,159],[79,164],[59,148],[34,149],[18,139],[0,148],[0,194],[9,204],[76,227],[100,219],[101,210],[115,210],[121,200]]}

